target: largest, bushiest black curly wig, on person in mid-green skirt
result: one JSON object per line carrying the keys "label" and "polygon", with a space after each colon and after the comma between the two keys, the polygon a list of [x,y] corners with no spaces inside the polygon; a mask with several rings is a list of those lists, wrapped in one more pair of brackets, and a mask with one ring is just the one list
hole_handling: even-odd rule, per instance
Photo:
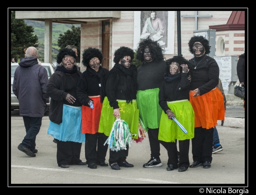
{"label": "largest, bushiest black curly wig, on person in mid-green skirt", "polygon": [[165,49],[163,49],[157,41],[153,41],[150,37],[147,37],[146,39],[142,39],[139,43],[138,51],[136,58],[140,62],[144,62],[144,49],[148,47],[148,49],[151,52],[152,59],[159,62],[164,59],[164,52]]}

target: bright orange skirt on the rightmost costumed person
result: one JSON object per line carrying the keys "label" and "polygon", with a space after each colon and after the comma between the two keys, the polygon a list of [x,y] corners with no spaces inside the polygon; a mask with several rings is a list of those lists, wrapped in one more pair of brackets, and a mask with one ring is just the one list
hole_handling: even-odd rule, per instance
{"label": "bright orange skirt on the rightmost costumed person", "polygon": [[189,92],[189,101],[195,112],[195,127],[211,129],[217,120],[225,119],[224,100],[218,88],[197,97],[193,97],[194,93]]}

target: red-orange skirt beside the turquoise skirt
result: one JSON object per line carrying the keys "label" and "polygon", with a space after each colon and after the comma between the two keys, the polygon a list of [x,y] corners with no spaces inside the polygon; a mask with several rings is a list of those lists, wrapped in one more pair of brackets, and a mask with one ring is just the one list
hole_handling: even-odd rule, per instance
{"label": "red-orange skirt beside the turquoise skirt", "polygon": [[94,108],[91,109],[88,106],[82,106],[82,133],[95,134],[99,130],[99,119],[101,118],[101,97],[89,96],[94,103]]}

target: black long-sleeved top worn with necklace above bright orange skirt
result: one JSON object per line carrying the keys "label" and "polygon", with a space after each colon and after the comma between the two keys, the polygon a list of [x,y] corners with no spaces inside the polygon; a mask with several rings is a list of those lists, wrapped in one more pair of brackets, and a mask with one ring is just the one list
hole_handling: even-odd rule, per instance
{"label": "black long-sleeved top worn with necklace above bright orange skirt", "polygon": [[192,78],[190,90],[198,88],[200,90],[200,95],[203,95],[218,85],[219,66],[213,58],[204,54],[201,57],[192,58],[189,62],[196,65],[196,69],[191,70]]}

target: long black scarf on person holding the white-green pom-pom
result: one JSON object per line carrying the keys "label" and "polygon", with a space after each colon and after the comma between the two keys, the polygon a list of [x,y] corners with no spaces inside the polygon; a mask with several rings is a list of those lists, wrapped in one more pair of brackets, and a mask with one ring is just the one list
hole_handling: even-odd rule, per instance
{"label": "long black scarf on person holding the white-green pom-pom", "polygon": [[132,104],[132,97],[137,93],[137,68],[135,65],[131,65],[129,68],[126,68],[124,65],[115,64],[113,68],[119,69],[123,75],[126,76],[126,87],[127,92],[125,94],[126,103]]}

